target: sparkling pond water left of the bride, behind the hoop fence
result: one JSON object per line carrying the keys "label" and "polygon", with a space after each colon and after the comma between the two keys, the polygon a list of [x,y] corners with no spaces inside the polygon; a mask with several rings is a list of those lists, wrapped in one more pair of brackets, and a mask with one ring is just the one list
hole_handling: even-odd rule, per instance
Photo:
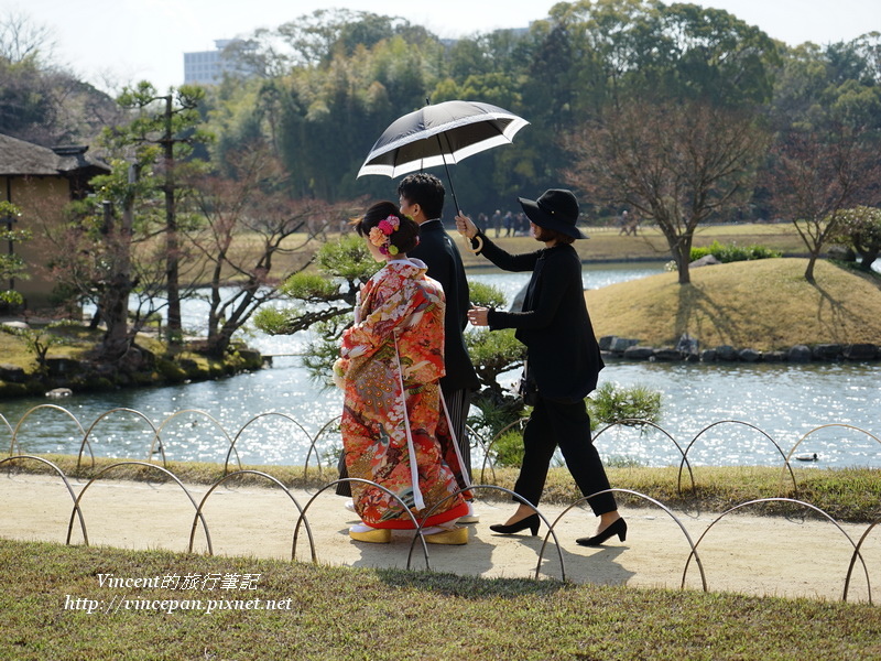
{"label": "sparkling pond water left of the bride, behind the hoop fence", "polygon": [[[341,397],[335,391],[316,392],[296,360],[295,357],[276,358],[273,369],[216,381],[75,394],[57,403],[69,410],[86,429],[102,413],[116,408],[135,409],[156,427],[171,419],[162,427],[161,438],[166,457],[172,460],[224,462],[230,441],[252,418],[278,412],[293,418],[303,429],[280,415],[261,418],[248,424],[237,440],[239,457],[244,464],[303,464],[312,437],[339,415]],[[29,409],[45,403],[46,400],[39,399],[3,402],[0,413],[14,426]],[[207,415],[188,412],[191,409]],[[0,437],[9,441],[9,434]],[[119,411],[95,425],[89,445],[98,456],[143,459],[153,438],[146,422]],[[325,449],[339,445],[334,434],[322,438]],[[25,453],[76,453],[81,440],[76,424],[54,410],[31,414],[18,433],[20,451]]]}

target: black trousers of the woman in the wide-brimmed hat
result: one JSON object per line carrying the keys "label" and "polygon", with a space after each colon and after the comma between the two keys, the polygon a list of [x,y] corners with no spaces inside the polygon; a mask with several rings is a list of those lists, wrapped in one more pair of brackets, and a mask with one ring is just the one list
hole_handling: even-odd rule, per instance
{"label": "black trousers of the woman in the wide-brimmed hat", "polygon": [[[545,399],[539,393],[523,431],[523,465],[514,485],[515,494],[532,505],[539,505],[557,446],[583,495],[590,496],[611,488],[590,437],[590,416],[585,402],[563,403]],[[596,516],[618,509],[611,494],[591,498],[588,503]]]}

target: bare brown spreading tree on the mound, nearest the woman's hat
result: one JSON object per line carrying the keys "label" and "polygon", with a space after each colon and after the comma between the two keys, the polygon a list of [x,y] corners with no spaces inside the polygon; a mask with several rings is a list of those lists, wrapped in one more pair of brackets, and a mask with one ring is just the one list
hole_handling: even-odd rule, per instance
{"label": "bare brown spreading tree on the mound, nearest the woman's hat", "polygon": [[746,110],[631,99],[566,136],[566,144],[575,159],[567,181],[656,223],[685,284],[695,230],[749,192],[766,138]]}

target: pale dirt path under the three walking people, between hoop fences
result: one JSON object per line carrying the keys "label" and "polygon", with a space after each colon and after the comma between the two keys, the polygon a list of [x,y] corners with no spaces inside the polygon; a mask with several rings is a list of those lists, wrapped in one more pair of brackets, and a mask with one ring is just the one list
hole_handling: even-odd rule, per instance
{"label": "pale dirt path under the three walking people, between hoop fences", "polygon": [[[74,495],[84,483],[72,483]],[[204,485],[186,485],[199,503],[207,494]],[[292,490],[301,507],[314,492]],[[0,537],[65,543],[73,498],[58,477],[0,474]],[[391,544],[365,544],[349,540],[348,527],[356,522],[344,507],[344,499],[324,491],[306,512],[314,537],[317,562],[351,566],[406,567],[412,533],[396,532]],[[186,552],[193,528],[195,506],[174,484],[123,480],[94,483],[81,498],[88,542],[93,546],[124,549],[168,549]],[[470,542],[465,546],[428,546],[428,565],[434,571],[480,576],[534,576],[544,541],[542,537],[498,535],[490,523],[502,522],[510,513],[508,503],[478,501],[481,517],[469,525]],[[563,511],[548,506],[542,512],[552,522]],[[290,560],[297,508],[280,488],[242,487],[215,489],[203,509],[216,555],[253,555]],[[577,583],[623,584],[634,587],[678,589],[683,573],[689,589],[701,589],[700,567],[687,563],[690,545],[676,520],[659,509],[622,510],[629,533],[623,543],[617,538],[599,549],[575,543],[577,537],[592,533],[596,525],[589,512],[569,511],[555,527],[559,551],[551,539],[544,550],[540,577],[565,577]],[[675,512],[697,545],[707,589],[751,595],[809,597],[840,600],[853,553],[852,543],[827,521],[798,521],[782,518],[732,514],[716,524],[716,514],[695,516]],[[853,543],[866,524],[842,524]],[[706,537],[698,543],[703,533]],[[207,551],[204,528],[197,525],[194,551]],[[84,535],[76,521],[72,543]],[[561,564],[561,556],[563,565]],[[881,528],[872,531],[862,552],[867,571],[858,563],[851,577],[848,602],[873,602],[881,597]],[[296,559],[311,561],[308,538],[301,530]],[[687,564],[687,571],[686,571]],[[424,568],[425,556],[416,544],[412,568]]]}

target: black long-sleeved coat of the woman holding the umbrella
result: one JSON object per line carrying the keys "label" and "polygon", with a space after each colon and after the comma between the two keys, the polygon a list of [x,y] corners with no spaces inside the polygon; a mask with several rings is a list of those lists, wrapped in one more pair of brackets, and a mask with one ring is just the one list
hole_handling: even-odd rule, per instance
{"label": "black long-sleeved coat of the woman holding the umbrella", "polygon": [[561,243],[511,254],[481,232],[481,253],[505,271],[532,271],[522,312],[490,310],[490,329],[515,328],[526,345],[530,375],[548,399],[575,402],[597,387],[605,367],[587,313],[581,261]]}

